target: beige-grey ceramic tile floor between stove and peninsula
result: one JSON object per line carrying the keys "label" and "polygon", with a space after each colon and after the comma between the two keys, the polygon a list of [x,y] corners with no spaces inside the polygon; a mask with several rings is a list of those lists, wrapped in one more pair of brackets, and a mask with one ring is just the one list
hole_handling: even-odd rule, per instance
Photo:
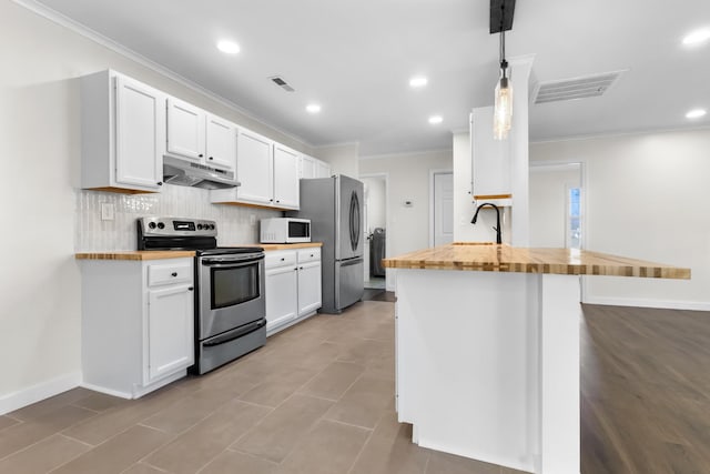
{"label": "beige-grey ceramic tile floor between stove and peninsula", "polygon": [[412,444],[394,304],[316,315],[136,401],[84,389],[0,416],[0,473],[513,474]]}

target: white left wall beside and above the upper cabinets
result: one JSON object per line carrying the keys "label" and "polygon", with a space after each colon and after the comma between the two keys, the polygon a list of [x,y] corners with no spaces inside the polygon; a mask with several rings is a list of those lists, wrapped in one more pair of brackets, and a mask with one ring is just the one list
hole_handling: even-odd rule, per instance
{"label": "white left wall beside and above the upper cabinets", "polygon": [[[84,212],[79,205],[81,196],[88,194],[75,191],[81,159],[77,78],[113,68],[290,147],[311,154],[313,151],[13,2],[0,2],[0,18],[4,178],[0,215],[3,223],[12,224],[2,235],[6,255],[0,266],[3,413],[80,381],[81,290],[73,253],[75,221]],[[122,200],[133,198],[112,199],[128,202]],[[159,199],[159,206],[161,202]],[[176,209],[186,211],[185,205]],[[95,210],[88,208],[87,212]],[[239,221],[250,212],[224,215]]]}

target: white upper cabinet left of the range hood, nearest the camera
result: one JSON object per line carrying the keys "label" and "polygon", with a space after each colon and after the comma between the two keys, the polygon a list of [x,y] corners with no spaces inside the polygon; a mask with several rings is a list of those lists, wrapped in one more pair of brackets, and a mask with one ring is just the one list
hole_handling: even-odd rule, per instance
{"label": "white upper cabinet left of the range hood, nearest the camera", "polygon": [[81,78],[81,186],[160,191],[165,95],[108,70]]}

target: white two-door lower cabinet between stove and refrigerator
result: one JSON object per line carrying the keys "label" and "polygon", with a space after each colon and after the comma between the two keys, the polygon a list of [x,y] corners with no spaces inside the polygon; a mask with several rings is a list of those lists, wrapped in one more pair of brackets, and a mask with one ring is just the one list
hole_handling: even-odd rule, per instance
{"label": "white two-door lower cabinet between stove and refrigerator", "polygon": [[321,307],[321,249],[266,252],[266,335]]}

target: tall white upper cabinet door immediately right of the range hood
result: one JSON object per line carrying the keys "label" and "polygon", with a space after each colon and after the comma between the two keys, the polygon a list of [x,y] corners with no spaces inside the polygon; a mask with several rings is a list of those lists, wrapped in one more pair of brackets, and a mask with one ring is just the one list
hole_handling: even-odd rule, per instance
{"label": "tall white upper cabinet door immediately right of the range hood", "polygon": [[[240,202],[273,205],[273,142],[248,130],[240,130],[236,140],[236,189]],[[230,194],[232,190],[226,191]]]}

